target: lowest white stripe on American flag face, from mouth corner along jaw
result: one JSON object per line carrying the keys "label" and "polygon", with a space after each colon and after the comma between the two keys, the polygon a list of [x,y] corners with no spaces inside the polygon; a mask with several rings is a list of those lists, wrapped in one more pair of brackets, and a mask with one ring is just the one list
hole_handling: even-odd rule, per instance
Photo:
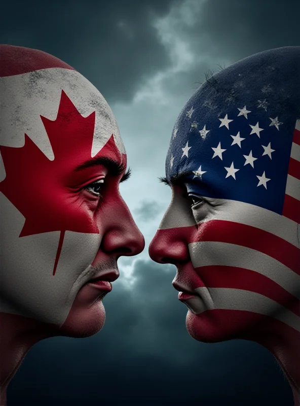
{"label": "lowest white stripe on American flag face, from mouth corner along jaw", "polygon": [[[202,296],[203,288],[195,290]],[[271,316],[300,332],[300,318],[269,297],[248,290],[230,288],[209,288],[209,293],[213,304],[205,303],[208,309],[242,310]],[[205,309],[198,314],[203,311]]]}

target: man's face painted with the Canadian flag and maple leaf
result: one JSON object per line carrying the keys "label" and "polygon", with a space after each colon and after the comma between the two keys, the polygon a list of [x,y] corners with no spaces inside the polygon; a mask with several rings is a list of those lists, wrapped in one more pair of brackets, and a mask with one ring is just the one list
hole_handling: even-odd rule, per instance
{"label": "man's face painted with the Canadian flag and maple leaf", "polygon": [[0,53],[0,311],[90,335],[117,259],[144,247],[119,193],[118,125],[66,63],[22,47]]}

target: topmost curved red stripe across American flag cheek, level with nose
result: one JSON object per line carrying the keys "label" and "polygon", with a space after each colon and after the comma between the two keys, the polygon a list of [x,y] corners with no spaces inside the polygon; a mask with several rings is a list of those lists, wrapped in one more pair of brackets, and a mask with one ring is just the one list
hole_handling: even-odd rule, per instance
{"label": "topmost curved red stripe across American flag cheek, level with nose", "polygon": [[300,250],[271,232],[225,220],[211,220],[199,224],[193,241],[230,243],[260,251],[300,275]]}

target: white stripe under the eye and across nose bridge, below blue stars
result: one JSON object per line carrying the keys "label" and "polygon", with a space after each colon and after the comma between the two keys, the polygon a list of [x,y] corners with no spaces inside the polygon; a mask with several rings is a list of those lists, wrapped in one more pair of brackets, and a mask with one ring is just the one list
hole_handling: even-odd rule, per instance
{"label": "white stripe under the eye and across nose bridge, below blue stars", "polygon": [[[198,224],[209,220],[226,220],[257,227],[271,232],[286,240],[295,247],[299,247],[297,238],[297,223],[271,210],[250,205],[237,200],[216,199],[205,197],[207,203],[193,211]],[[195,225],[193,217],[189,215],[189,201],[175,196],[167,209],[159,229],[188,227]]]}

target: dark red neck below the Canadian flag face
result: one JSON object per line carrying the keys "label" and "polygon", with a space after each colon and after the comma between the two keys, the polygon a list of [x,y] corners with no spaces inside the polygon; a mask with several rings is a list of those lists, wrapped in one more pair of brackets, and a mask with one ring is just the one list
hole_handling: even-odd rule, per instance
{"label": "dark red neck below the Canadian flag face", "polygon": [[6,406],[8,384],[27,351],[37,342],[53,336],[45,323],[8,313],[0,313],[0,405]]}

